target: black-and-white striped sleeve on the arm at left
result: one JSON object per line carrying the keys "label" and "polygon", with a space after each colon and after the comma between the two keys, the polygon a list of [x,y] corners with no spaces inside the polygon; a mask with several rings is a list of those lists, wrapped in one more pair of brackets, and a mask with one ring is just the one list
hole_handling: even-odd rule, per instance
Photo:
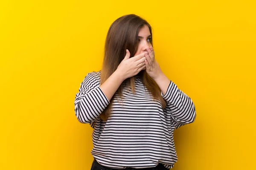
{"label": "black-and-white striped sleeve on the arm at left", "polygon": [[90,72],[80,84],[79,93],[75,98],[75,113],[81,123],[90,123],[99,117],[110,103],[99,87],[100,79],[96,72]]}

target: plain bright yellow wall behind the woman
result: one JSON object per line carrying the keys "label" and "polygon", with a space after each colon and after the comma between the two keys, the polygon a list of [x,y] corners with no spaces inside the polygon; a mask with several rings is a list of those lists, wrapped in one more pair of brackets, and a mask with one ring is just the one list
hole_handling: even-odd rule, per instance
{"label": "plain bright yellow wall behind the woman", "polygon": [[156,2],[0,1],[0,169],[90,169],[92,128],[76,119],[75,94],[101,69],[111,23],[133,13],[196,106],[175,132],[174,170],[256,169],[255,3]]}

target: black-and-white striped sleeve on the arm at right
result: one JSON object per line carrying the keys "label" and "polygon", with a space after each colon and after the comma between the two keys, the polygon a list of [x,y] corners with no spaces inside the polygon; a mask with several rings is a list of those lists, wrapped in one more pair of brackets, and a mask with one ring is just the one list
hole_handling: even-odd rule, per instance
{"label": "black-and-white striped sleeve on the arm at right", "polygon": [[171,81],[166,94],[163,95],[161,91],[161,95],[166,100],[166,112],[174,120],[176,129],[195,121],[196,111],[192,99],[177,88],[174,82]]}

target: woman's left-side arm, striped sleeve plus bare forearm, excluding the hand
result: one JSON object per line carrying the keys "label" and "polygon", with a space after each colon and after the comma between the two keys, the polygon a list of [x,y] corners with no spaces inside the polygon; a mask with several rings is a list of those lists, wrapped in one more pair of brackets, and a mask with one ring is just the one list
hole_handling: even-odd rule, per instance
{"label": "woman's left-side arm, striped sleeve plus bare forearm, excluding the hand", "polygon": [[102,85],[96,73],[88,73],[75,98],[76,117],[81,123],[91,123],[109,105],[109,101],[119,88],[123,79],[115,71]]}

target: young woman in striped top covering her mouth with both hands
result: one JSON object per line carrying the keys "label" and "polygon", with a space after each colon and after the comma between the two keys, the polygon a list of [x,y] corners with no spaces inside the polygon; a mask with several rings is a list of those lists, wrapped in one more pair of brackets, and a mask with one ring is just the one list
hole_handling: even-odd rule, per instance
{"label": "young woman in striped top covering her mouth with both hands", "polygon": [[154,58],[151,26],[135,14],[110,26],[102,69],[84,78],[75,112],[93,127],[91,170],[172,168],[174,130],[196,117],[192,100]]}

